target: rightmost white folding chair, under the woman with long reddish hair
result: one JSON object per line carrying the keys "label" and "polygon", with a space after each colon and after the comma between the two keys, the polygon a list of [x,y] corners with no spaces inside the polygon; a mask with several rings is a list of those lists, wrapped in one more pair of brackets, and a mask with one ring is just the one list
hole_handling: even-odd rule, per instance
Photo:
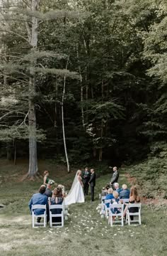
{"label": "rightmost white folding chair, under the woman with long reddish hair", "polygon": [[[139,225],[141,225],[141,203],[129,203],[129,205],[127,205],[127,221],[128,221],[128,225],[130,225],[131,223],[139,223]],[[129,211],[129,209],[132,208],[138,208],[138,211],[135,213],[131,213]],[[131,220],[130,216],[133,216],[134,218],[137,217],[137,219]]]}

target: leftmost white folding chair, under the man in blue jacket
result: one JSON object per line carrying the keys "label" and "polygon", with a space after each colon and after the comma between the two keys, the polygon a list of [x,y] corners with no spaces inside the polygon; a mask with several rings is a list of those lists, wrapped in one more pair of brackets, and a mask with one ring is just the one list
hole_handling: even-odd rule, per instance
{"label": "leftmost white folding chair, under the man in blue jacket", "polygon": [[[35,215],[35,213],[34,213],[35,209],[45,209],[45,211],[43,214]],[[39,226],[46,227],[46,224],[47,224],[46,210],[47,210],[46,205],[33,205],[32,206],[31,211],[32,211],[32,218],[33,218],[33,228],[38,228]],[[43,223],[42,222],[38,223],[37,218],[43,218]]]}

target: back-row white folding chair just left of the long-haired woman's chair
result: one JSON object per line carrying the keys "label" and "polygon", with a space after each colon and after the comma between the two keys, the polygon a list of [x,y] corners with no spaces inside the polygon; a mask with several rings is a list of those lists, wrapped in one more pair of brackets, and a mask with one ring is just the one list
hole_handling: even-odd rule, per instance
{"label": "back-row white folding chair just left of the long-haired woman's chair", "polygon": [[[120,213],[113,213],[113,209],[119,210]],[[109,210],[109,223],[111,226],[113,226],[113,223],[121,223],[121,225],[124,225],[124,205],[122,203],[110,203],[110,210]],[[115,217],[115,220],[113,220],[113,217]]]}

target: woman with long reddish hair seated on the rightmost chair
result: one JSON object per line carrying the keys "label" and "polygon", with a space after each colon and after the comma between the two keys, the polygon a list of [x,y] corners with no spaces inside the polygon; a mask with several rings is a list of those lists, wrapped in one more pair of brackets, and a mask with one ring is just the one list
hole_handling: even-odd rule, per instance
{"label": "woman with long reddish hair seated on the rightmost chair", "polygon": [[[130,203],[140,203],[140,198],[137,193],[137,188],[134,186],[130,188],[129,204]],[[125,205],[127,204],[125,203]],[[139,211],[138,207],[129,208],[129,213],[138,213],[138,211]],[[126,215],[126,212],[127,212],[127,207],[125,208],[125,211],[124,211],[124,217]],[[130,218],[131,220],[133,220],[133,216],[130,216]]]}

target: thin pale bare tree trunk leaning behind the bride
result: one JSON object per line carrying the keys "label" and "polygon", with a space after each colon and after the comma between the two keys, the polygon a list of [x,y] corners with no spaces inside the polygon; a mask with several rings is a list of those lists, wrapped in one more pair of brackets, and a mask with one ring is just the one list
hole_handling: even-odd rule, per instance
{"label": "thin pale bare tree trunk leaning behind the bride", "polygon": [[[68,61],[67,61],[68,65]],[[66,70],[67,70],[67,65],[66,65]],[[67,154],[67,146],[66,146],[66,137],[65,137],[65,130],[64,130],[64,95],[66,92],[66,75],[64,75],[64,85],[63,85],[63,93],[62,93],[62,132],[63,132],[63,142],[64,142],[64,151],[66,155],[66,161],[67,161],[67,171],[69,173],[69,159],[68,159],[68,154]]]}

